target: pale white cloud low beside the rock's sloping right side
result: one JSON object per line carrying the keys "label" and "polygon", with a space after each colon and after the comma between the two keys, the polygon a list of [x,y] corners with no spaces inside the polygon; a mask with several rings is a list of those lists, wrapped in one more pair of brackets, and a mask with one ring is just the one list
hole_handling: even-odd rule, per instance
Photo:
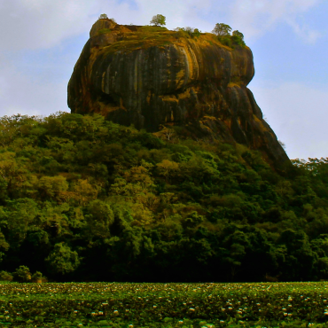
{"label": "pale white cloud low beside the rock's sloping right side", "polygon": [[296,82],[251,86],[257,104],[268,118],[291,159],[327,156],[328,86],[314,88]]}

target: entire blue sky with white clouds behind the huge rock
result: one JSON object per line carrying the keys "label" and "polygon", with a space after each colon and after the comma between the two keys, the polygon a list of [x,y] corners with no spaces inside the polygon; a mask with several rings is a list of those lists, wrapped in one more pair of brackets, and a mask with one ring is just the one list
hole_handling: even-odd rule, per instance
{"label": "entire blue sky with white clouds behind the huge rock", "polygon": [[326,0],[0,0],[0,116],[70,112],[67,83],[101,13],[118,24],[245,35],[253,91],[290,159],[328,157]]}

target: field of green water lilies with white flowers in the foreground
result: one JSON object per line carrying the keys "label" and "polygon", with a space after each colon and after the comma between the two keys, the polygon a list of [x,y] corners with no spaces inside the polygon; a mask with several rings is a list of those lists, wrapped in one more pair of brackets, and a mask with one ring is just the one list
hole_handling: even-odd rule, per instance
{"label": "field of green water lilies with white flowers in the foreground", "polygon": [[327,287],[8,283],[0,285],[0,327],[328,327]]}

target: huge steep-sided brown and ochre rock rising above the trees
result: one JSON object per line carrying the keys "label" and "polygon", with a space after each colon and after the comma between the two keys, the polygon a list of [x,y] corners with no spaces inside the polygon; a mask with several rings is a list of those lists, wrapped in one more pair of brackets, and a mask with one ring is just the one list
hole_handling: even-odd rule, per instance
{"label": "huge steep-sided brown and ochre rock rising above the trees", "polygon": [[246,88],[253,77],[252,51],[213,34],[98,20],[68,83],[68,106],[150,132],[178,125],[191,137],[245,144],[280,167],[289,159]]}

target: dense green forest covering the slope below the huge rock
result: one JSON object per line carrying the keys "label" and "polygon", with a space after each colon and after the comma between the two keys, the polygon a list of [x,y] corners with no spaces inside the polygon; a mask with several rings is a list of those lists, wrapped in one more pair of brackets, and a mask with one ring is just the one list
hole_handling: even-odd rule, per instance
{"label": "dense green forest covering the slope below the huge rock", "polygon": [[1,117],[0,276],[327,279],[328,158],[292,163],[98,114]]}

